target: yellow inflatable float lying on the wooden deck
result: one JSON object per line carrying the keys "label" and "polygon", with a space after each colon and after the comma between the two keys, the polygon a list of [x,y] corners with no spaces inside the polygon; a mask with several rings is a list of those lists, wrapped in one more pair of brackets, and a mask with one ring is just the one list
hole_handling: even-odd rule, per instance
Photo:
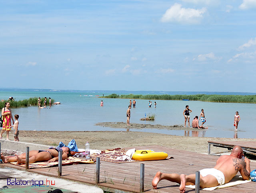
{"label": "yellow inflatable float lying on the wooden deck", "polygon": [[139,161],[161,160],[166,159],[168,154],[165,152],[156,152],[152,149],[136,150],[132,159]]}

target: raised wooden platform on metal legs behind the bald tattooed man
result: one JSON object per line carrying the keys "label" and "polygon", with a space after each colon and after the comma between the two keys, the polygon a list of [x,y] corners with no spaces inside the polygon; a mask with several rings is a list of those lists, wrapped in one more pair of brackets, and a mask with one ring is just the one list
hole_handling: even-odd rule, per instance
{"label": "raised wooden platform on metal legs behind the bald tattooed man", "polygon": [[233,149],[234,146],[239,145],[246,153],[256,155],[256,141],[208,141],[208,154],[214,155],[224,152],[211,153],[211,145],[226,148],[229,151]]}

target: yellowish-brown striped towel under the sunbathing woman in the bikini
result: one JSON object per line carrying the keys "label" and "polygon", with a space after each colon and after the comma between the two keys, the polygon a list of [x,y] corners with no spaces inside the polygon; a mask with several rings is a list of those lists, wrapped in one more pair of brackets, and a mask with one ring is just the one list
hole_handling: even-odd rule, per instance
{"label": "yellowish-brown striped towel under the sunbathing woman in the bikini", "polygon": [[[94,160],[92,159],[79,159],[77,157],[68,157],[67,159],[62,160],[62,165],[74,165],[74,164],[79,164],[79,163],[95,163]],[[22,164],[17,164],[16,162],[10,162],[10,164],[13,165],[18,165],[21,167],[26,167],[25,163]],[[30,163],[29,164],[29,168],[41,168],[41,167],[52,167],[54,165],[58,165],[58,161],[54,161],[54,162],[47,162],[47,161],[41,161],[41,162],[35,162],[35,163]]]}

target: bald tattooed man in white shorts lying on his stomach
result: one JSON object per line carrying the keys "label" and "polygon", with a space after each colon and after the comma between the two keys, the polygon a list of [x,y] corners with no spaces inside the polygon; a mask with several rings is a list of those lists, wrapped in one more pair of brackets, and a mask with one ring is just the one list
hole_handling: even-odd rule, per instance
{"label": "bald tattooed man in white shorts lying on his stomach", "polygon": [[[243,149],[240,146],[235,146],[230,155],[220,156],[214,168],[200,170],[200,188],[214,187],[219,184],[228,183],[238,171],[244,180],[249,179],[250,160],[243,156]],[[158,171],[152,181],[153,188],[156,189],[158,182],[163,179],[179,183],[180,193],[184,193],[185,185],[195,184],[196,174],[178,175],[176,173],[162,173]]]}

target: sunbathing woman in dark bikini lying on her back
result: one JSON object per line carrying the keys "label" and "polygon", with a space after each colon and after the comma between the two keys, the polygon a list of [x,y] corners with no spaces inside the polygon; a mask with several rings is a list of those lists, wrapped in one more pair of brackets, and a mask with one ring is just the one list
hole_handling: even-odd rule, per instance
{"label": "sunbathing woman in dark bikini lying on her back", "polygon": [[[46,150],[32,150],[29,151],[29,163],[35,163],[36,161],[58,161],[59,151],[62,152],[62,159],[68,158],[70,149],[68,147],[50,147]],[[1,159],[4,163],[17,161],[17,164],[26,163],[26,153],[21,155],[15,155],[12,157],[5,157],[1,153]]]}

